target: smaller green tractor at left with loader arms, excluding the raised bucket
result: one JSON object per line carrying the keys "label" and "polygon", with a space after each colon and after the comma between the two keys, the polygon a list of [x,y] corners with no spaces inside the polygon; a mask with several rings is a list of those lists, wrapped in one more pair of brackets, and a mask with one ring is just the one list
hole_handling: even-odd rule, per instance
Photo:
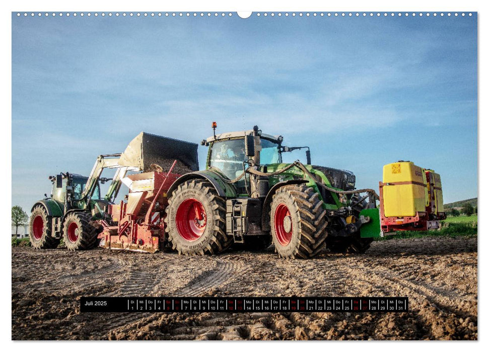
{"label": "smaller green tractor at left with loader arms, excluding the raised bucket", "polygon": [[90,249],[97,242],[97,226],[93,219],[103,219],[107,205],[112,204],[120,187],[120,177],[127,167],[118,167],[109,191],[101,197],[100,184],[110,179],[100,178],[105,167],[118,166],[120,154],[100,155],[90,177],[76,173],[50,176],[51,196],[37,201],[32,207],[30,240],[34,248],[56,248],[61,240],[69,250]]}

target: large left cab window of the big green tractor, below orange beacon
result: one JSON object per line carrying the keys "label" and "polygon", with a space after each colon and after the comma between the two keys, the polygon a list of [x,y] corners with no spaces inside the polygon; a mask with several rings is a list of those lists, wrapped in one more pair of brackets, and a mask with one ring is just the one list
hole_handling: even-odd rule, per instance
{"label": "large left cab window of the big green tractor, below orange beacon", "polygon": [[213,143],[209,166],[218,168],[233,180],[243,172],[246,160],[244,138],[228,139]]}

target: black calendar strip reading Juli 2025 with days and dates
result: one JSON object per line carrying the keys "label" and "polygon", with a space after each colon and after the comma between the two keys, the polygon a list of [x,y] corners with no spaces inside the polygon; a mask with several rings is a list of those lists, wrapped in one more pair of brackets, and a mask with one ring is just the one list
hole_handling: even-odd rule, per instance
{"label": "black calendar strip reading Juli 2025 with days and dates", "polygon": [[82,297],[82,312],[407,312],[407,297]]}

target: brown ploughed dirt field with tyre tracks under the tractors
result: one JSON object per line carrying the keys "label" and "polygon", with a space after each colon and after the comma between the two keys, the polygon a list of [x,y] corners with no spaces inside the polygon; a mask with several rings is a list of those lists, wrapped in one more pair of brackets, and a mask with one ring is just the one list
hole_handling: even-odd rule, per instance
{"label": "brown ploughed dirt field with tyre tracks under the tractors", "polygon": [[[80,313],[81,296],[407,296],[408,313]],[[279,259],[12,248],[12,338],[477,339],[477,238]]]}

